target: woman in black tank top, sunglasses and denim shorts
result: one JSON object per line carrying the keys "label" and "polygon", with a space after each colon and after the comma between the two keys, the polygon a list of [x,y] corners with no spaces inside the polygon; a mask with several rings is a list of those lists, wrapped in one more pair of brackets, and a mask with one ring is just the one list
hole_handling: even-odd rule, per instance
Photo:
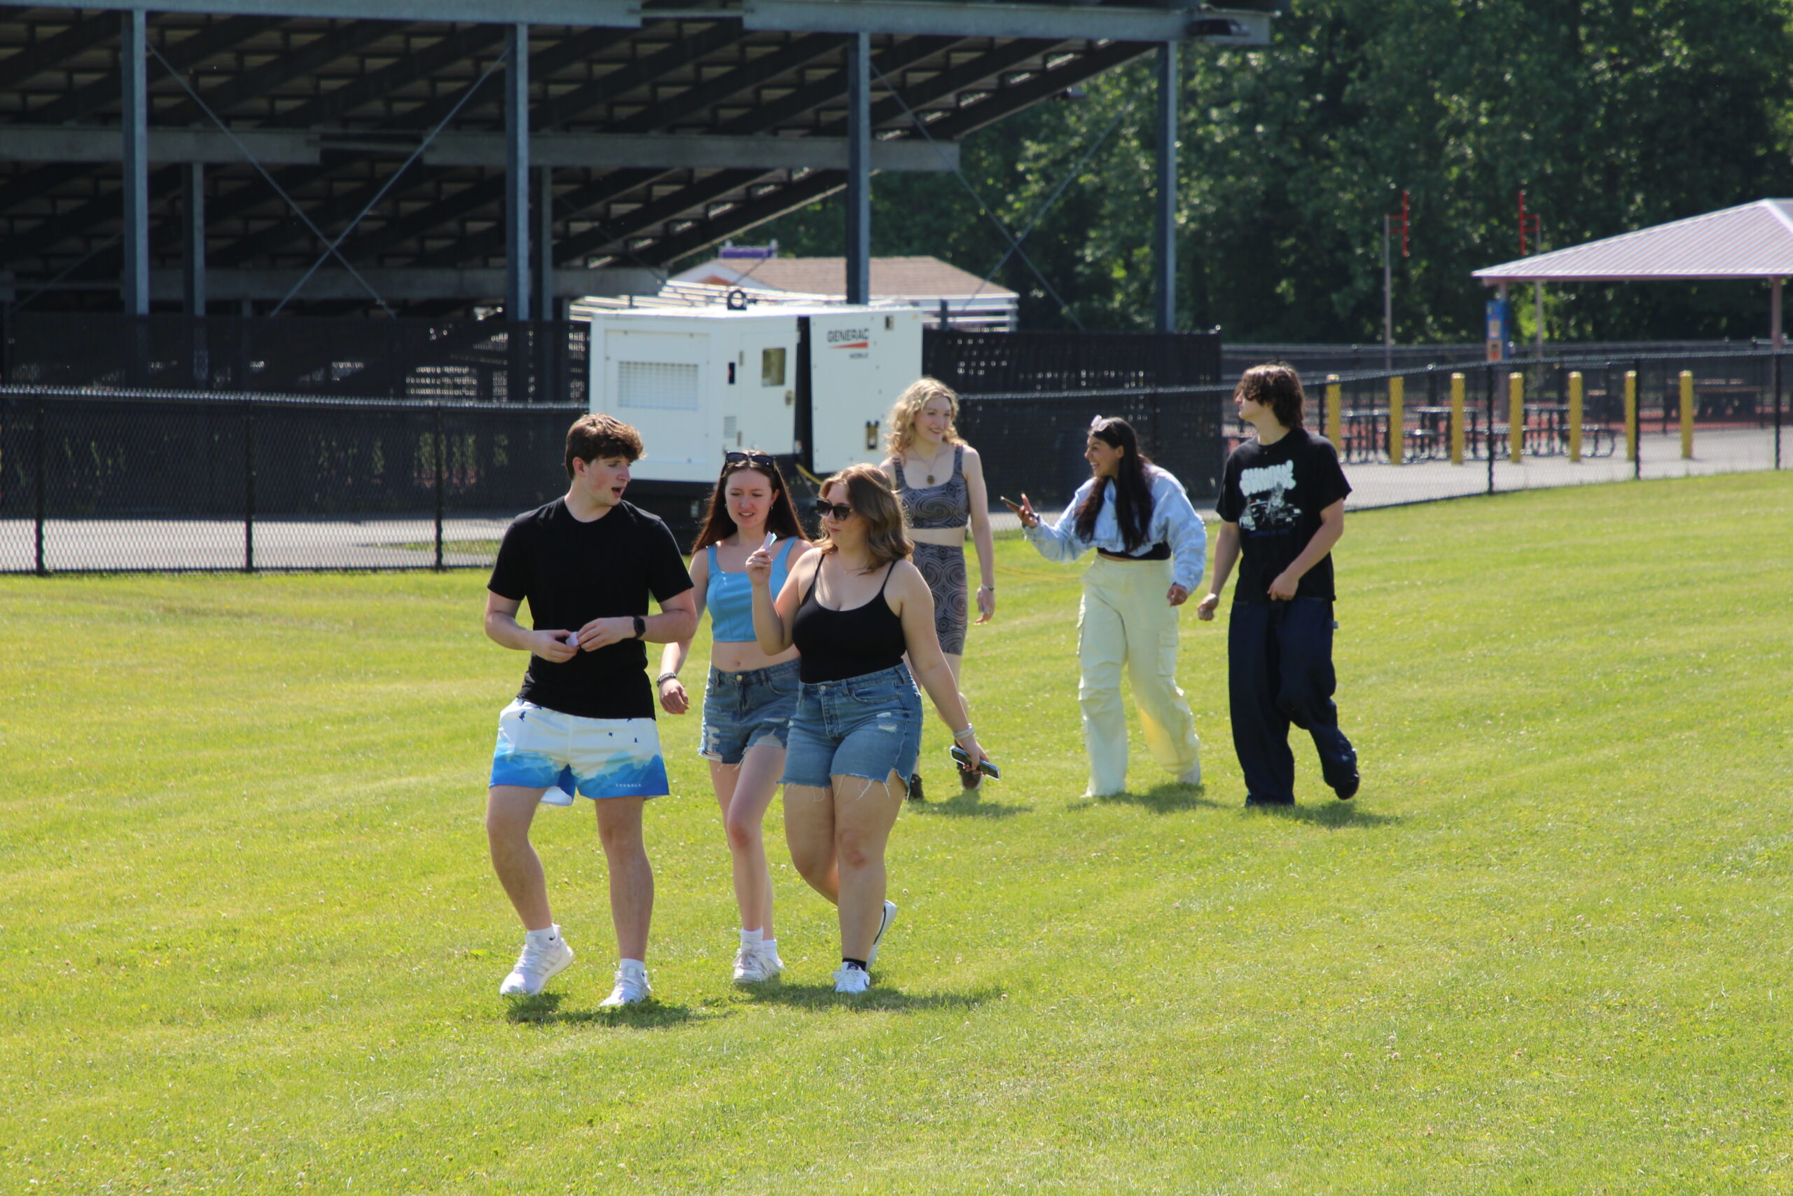
{"label": "woman in black tank top, sunglasses and denim shorts", "polygon": [[[884,898],[884,845],[922,748],[922,696],[972,760],[977,744],[934,635],[927,581],[909,563],[902,507],[884,473],[855,464],[821,486],[818,552],[771,592],[771,558],[748,558],[753,633],[767,653],[803,653],[785,737],[791,862],[841,911],[834,990],[862,993],[896,906]],[[773,647],[776,644],[776,647]],[[914,663],[914,678],[904,654]]]}

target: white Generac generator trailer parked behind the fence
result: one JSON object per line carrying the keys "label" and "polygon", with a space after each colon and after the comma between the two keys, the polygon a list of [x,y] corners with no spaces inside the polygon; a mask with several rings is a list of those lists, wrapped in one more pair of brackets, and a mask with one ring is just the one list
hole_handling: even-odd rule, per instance
{"label": "white Generac generator trailer parked behind the fence", "polygon": [[[922,377],[913,307],[583,308],[592,411],[640,429],[629,500],[692,527],[723,468],[751,448],[827,477],[884,457],[891,402]],[[809,511],[803,511],[805,520]]]}

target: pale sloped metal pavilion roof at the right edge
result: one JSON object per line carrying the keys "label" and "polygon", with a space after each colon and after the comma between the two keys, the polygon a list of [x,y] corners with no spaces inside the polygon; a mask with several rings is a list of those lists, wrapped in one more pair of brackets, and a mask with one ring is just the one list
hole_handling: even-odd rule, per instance
{"label": "pale sloped metal pavilion roof at the right edge", "polygon": [[1793,199],[1755,203],[1553,249],[1474,273],[1503,282],[1793,278]]}

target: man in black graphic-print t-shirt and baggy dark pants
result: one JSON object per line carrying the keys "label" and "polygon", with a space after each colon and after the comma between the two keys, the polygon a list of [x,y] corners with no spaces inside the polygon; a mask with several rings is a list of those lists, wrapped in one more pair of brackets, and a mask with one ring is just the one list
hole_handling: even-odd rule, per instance
{"label": "man in black graphic-print t-shirt and baggy dark pants", "polygon": [[1332,443],[1302,427],[1305,402],[1289,366],[1253,366],[1239,378],[1234,405],[1257,438],[1226,457],[1214,581],[1196,606],[1196,617],[1214,619],[1239,561],[1226,662],[1246,805],[1295,803],[1289,723],[1314,737],[1320,773],[1339,798],[1359,784],[1332,705],[1330,552],[1345,534],[1350,482]]}

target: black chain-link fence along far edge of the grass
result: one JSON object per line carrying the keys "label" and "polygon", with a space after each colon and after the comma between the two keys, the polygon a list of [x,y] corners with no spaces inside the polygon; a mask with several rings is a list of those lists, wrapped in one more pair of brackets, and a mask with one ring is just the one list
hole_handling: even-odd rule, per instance
{"label": "black chain-link fence along far edge of the grass", "polygon": [[[1309,375],[1352,509],[1779,470],[1789,353],[1662,353]],[[484,567],[563,493],[579,403],[0,387],[0,572]],[[990,495],[1061,506],[1092,416],[1212,506],[1250,430],[1232,386],[961,396]],[[997,524],[1011,516],[997,513]]]}

